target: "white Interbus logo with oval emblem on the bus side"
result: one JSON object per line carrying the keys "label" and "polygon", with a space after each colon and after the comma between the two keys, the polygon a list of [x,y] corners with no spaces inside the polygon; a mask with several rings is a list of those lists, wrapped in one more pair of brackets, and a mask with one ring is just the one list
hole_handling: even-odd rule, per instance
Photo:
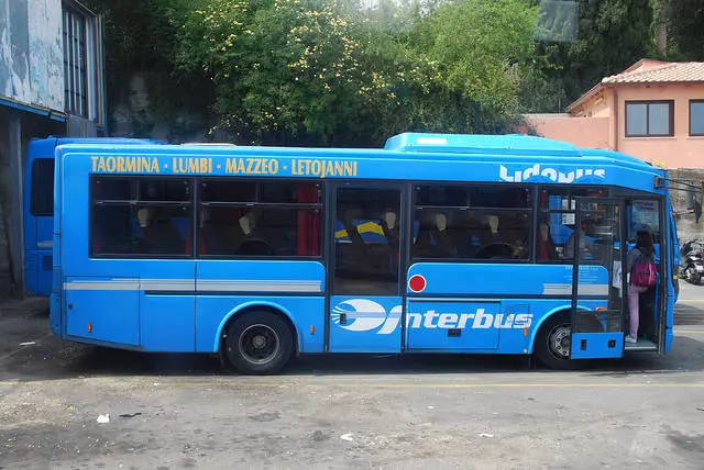
{"label": "white Interbus logo with oval emblem on the bus side", "polygon": [[[350,299],[340,302],[332,309],[332,321],[336,325],[350,332],[371,332],[380,328],[377,335],[388,335],[396,331],[400,323],[402,307],[396,305],[388,313],[378,303],[369,299]],[[488,313],[479,307],[474,313],[443,313],[429,310],[425,313],[408,313],[407,328],[450,329],[522,329],[532,324],[529,313]]]}

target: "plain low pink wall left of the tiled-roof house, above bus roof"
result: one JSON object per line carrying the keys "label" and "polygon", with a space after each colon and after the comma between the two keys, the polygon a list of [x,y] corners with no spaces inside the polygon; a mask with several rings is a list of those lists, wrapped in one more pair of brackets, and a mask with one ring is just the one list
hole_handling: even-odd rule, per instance
{"label": "plain low pink wall left of the tiled-roof house, above bus roof", "polygon": [[609,148],[608,118],[572,118],[569,114],[526,114],[538,135],[580,147]]}

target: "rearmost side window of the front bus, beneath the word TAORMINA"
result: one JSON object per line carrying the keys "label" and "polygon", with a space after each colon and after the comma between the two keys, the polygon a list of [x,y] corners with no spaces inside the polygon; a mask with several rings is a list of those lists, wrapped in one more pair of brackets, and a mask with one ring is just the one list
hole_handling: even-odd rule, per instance
{"label": "rearmost side window of the front bus, beneath the word TAORMINA", "polygon": [[189,256],[190,179],[95,177],[92,257]]}

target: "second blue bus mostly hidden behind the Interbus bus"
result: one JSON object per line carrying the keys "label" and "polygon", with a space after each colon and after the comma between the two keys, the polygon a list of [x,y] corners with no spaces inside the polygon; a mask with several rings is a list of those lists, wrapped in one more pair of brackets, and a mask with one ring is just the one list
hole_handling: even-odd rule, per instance
{"label": "second blue bus mostly hidden behind the Interbus bus", "polygon": [[32,295],[52,293],[54,153],[74,143],[156,144],[151,139],[46,137],[30,142],[24,174],[24,286]]}

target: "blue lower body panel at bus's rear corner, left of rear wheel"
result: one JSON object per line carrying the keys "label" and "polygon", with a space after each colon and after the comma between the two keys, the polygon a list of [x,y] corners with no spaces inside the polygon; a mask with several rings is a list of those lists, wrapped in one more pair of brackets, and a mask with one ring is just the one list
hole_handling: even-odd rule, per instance
{"label": "blue lower body panel at bus's rear corner, left of rear wheel", "polygon": [[[109,279],[73,278],[69,282],[112,282]],[[66,335],[122,345],[140,344],[139,291],[67,290],[65,293]],[[103,284],[105,286],[105,284]],[[73,306],[73,307],[69,307]],[[92,332],[88,331],[88,324]]]}

